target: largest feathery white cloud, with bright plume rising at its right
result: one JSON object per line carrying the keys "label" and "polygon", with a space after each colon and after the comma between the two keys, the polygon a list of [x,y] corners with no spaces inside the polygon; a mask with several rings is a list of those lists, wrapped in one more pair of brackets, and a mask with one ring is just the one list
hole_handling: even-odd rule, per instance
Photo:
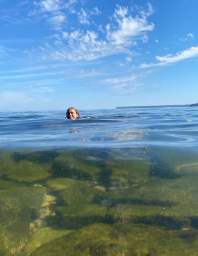
{"label": "largest feathery white cloud, with bright plume rising at its right", "polygon": [[[85,10],[81,8],[81,11],[80,23],[90,24]],[[139,15],[132,17],[131,10],[117,5],[102,38],[101,29],[100,32],[85,32],[83,29],[63,31],[62,47],[53,51],[51,56],[55,60],[79,61],[94,60],[118,53],[133,55],[131,48],[137,45],[137,40],[146,41],[147,32],[154,29],[154,24],[147,21],[147,17],[152,13],[152,6],[148,4],[147,10],[141,10]]]}

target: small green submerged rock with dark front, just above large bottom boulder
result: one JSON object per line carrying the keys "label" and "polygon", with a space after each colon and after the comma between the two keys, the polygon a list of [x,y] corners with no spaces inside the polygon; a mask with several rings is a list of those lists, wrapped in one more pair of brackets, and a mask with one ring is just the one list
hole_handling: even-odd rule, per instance
{"label": "small green submerged rock with dark front, just above large bottom boulder", "polygon": [[55,208],[61,219],[61,226],[66,229],[77,229],[85,225],[104,222],[106,207],[99,204],[70,205]]}

